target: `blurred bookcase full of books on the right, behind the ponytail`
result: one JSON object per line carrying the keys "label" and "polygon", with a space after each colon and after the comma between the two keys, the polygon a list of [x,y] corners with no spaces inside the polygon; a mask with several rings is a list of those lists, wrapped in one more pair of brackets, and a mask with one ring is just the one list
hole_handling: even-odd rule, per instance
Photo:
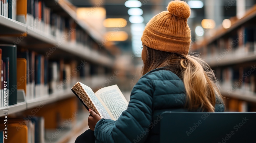
{"label": "blurred bookcase full of books on the right, behind the ponytail", "polygon": [[[224,97],[226,111],[255,111],[256,90],[256,5],[243,18],[231,17],[230,28],[220,26],[215,35],[192,45],[215,70]],[[249,73],[249,74],[248,74]]]}

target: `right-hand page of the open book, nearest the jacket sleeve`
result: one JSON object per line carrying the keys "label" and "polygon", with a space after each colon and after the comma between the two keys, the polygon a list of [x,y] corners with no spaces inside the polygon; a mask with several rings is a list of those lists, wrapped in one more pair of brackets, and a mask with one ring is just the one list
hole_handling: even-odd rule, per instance
{"label": "right-hand page of the open book, nearest the jacket sleeve", "polygon": [[117,120],[128,107],[128,102],[117,85],[104,87],[95,92],[95,95],[104,102],[115,120]]}

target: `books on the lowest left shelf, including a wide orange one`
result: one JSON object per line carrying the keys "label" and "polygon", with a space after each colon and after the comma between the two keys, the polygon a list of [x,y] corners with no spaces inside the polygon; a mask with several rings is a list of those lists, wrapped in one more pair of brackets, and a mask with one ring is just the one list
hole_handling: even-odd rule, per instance
{"label": "books on the lowest left shelf, including a wide orange one", "polygon": [[[5,121],[4,118],[1,118]],[[7,127],[6,127],[7,126]],[[44,118],[28,116],[24,118],[8,118],[0,124],[0,142],[5,143],[44,143]],[[7,132],[7,134],[5,134]]]}

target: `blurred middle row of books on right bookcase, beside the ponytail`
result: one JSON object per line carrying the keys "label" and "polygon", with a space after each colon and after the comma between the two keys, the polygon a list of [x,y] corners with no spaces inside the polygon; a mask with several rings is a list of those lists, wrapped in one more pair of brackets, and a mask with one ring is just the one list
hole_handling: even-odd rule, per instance
{"label": "blurred middle row of books on right bookcase, beside the ponytail", "polygon": [[232,93],[236,90],[256,93],[256,69],[252,67],[217,68],[218,77],[223,90]]}

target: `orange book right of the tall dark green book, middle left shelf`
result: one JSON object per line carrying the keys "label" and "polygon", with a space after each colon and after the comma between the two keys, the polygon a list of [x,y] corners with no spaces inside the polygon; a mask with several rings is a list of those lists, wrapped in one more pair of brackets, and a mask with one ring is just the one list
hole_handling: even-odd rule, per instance
{"label": "orange book right of the tall dark green book, middle left shelf", "polygon": [[25,58],[17,58],[17,89],[24,89],[27,95],[27,60]]}

